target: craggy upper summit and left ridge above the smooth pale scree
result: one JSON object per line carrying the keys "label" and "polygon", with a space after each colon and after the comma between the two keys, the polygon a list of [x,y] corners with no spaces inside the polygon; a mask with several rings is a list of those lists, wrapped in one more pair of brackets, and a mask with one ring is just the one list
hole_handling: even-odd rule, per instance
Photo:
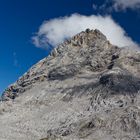
{"label": "craggy upper summit and left ridge above the smooth pale scree", "polygon": [[116,65],[121,49],[113,46],[99,30],[86,29],[54,48],[51,54],[10,85],[3,93],[9,100],[34,84],[73,77],[82,71],[101,72]]}

